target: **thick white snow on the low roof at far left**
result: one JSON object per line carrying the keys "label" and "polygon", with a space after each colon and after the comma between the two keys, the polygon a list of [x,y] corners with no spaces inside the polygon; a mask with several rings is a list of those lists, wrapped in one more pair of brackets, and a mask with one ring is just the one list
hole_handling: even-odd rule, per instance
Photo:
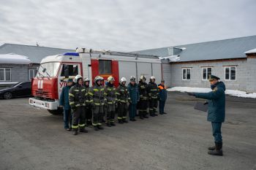
{"label": "thick white snow on the low roof at far left", "polygon": [[0,63],[29,64],[31,61],[24,55],[10,53],[0,54]]}

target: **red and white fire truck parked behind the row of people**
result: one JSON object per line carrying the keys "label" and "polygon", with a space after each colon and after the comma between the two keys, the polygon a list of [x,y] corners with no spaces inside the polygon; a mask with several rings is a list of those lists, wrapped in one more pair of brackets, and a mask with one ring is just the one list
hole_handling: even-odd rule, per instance
{"label": "red and white fire truck parked behind the row of people", "polygon": [[67,79],[74,79],[80,74],[84,79],[88,77],[93,85],[97,75],[107,80],[111,75],[118,80],[140,75],[149,80],[151,75],[156,82],[162,79],[162,63],[157,55],[141,55],[138,53],[123,53],[116,51],[92,50],[80,48],[76,52],[61,55],[50,55],[42,59],[37,75],[31,81],[29,104],[34,107],[48,109],[51,114],[59,114],[59,96],[62,88],[67,85]]}

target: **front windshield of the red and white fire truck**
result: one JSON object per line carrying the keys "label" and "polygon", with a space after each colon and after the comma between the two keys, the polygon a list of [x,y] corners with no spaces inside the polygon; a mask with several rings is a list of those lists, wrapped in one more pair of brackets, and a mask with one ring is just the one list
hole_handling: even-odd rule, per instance
{"label": "front windshield of the red and white fire truck", "polygon": [[[60,63],[41,63],[36,77],[56,77]],[[45,69],[45,72],[43,72]]]}

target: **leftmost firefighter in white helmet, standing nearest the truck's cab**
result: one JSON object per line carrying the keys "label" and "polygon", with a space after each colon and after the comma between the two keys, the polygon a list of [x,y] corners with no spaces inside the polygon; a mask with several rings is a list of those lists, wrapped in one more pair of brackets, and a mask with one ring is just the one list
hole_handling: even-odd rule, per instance
{"label": "leftmost firefighter in white helmet, standing nearest the truck's cab", "polygon": [[72,130],[74,135],[80,132],[87,133],[86,130],[86,88],[83,87],[83,77],[77,75],[75,77],[75,85],[69,90],[69,105],[72,109]]}

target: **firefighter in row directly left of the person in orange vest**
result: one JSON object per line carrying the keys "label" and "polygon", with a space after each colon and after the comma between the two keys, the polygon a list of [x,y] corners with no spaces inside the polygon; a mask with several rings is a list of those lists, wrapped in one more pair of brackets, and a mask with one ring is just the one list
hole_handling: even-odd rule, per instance
{"label": "firefighter in row directly left of the person in orange vest", "polygon": [[156,84],[156,77],[151,76],[148,82],[148,102],[149,102],[149,115],[154,117],[157,116],[157,105],[159,90]]}

